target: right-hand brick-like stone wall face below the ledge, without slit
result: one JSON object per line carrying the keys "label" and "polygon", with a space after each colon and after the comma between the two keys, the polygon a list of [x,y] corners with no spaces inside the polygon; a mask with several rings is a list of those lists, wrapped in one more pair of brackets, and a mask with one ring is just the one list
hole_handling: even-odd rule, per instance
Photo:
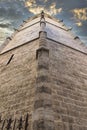
{"label": "right-hand brick-like stone wall face below the ledge, without slit", "polygon": [[55,130],[87,130],[87,55],[48,43]]}

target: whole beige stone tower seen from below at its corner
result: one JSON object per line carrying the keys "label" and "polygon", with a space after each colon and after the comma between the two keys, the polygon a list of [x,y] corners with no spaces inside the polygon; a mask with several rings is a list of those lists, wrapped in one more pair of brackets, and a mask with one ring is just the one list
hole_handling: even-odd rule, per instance
{"label": "whole beige stone tower seen from below at its corner", "polygon": [[44,12],[0,48],[0,130],[87,130],[87,47]]}

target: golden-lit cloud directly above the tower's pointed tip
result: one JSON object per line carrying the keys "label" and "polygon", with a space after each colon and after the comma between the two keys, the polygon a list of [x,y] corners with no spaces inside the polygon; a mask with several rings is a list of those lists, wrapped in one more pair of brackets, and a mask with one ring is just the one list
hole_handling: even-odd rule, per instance
{"label": "golden-lit cloud directly above the tower's pointed tip", "polygon": [[[45,0],[46,2],[47,0]],[[44,10],[45,13],[50,15],[56,15],[60,12],[62,12],[62,8],[57,9],[56,3],[52,3],[49,8],[45,8],[44,6],[37,5],[35,0],[27,1],[25,3],[25,6],[28,7],[29,11],[33,14],[39,14],[42,10]]]}

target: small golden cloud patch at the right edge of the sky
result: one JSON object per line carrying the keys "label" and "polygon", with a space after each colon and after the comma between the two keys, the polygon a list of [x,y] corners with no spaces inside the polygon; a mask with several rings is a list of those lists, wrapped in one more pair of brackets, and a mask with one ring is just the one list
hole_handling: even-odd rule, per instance
{"label": "small golden cloud patch at the right edge of the sky", "polygon": [[87,8],[74,9],[72,12],[74,14],[74,17],[78,20],[87,20]]}

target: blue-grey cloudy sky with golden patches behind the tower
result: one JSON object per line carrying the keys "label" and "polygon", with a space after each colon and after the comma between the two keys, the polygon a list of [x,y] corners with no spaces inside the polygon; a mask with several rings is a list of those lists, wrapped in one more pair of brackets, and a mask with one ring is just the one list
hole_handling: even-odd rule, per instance
{"label": "blue-grey cloudy sky with golden patches behind the tower", "polygon": [[57,19],[87,45],[87,0],[0,0],[0,44],[24,20],[42,10]]}

